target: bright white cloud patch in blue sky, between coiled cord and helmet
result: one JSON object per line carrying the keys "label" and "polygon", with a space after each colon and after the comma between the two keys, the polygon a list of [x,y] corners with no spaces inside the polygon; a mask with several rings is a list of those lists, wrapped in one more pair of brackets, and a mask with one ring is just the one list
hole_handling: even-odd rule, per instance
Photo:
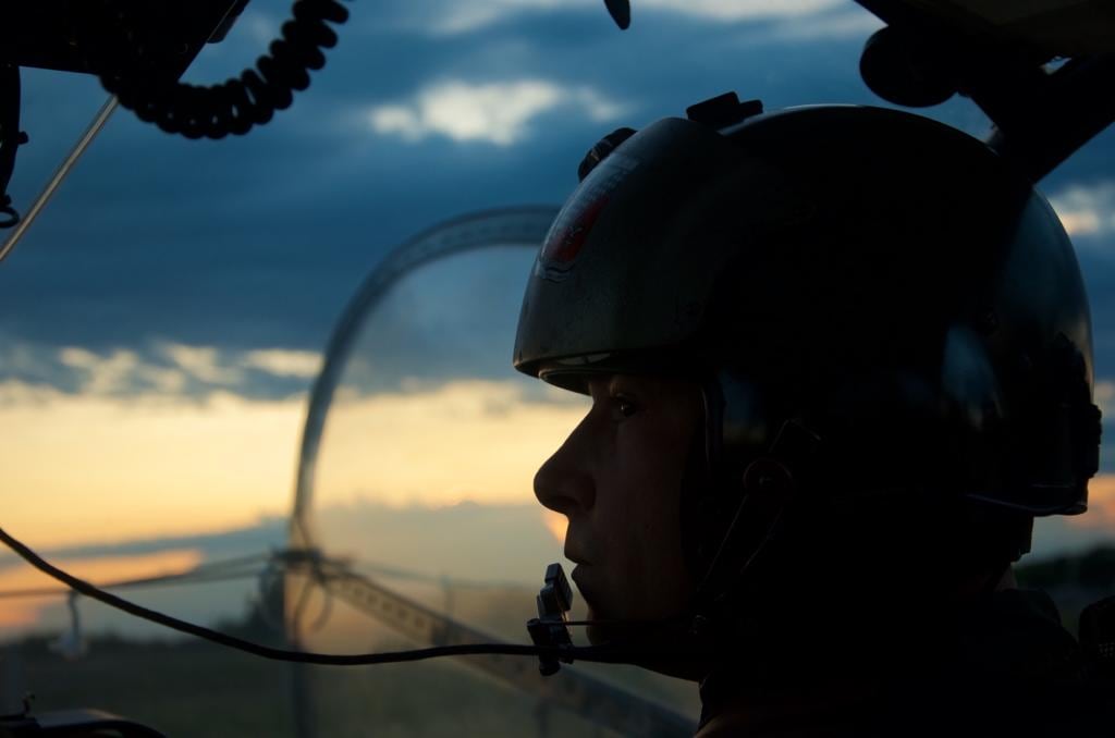
{"label": "bright white cloud patch in blue sky, between coiled cord and helmet", "polygon": [[456,142],[511,146],[529,134],[535,117],[553,109],[578,110],[593,122],[618,118],[623,107],[589,86],[543,79],[469,84],[437,82],[405,104],[380,105],[366,114],[378,134],[419,142],[439,135]]}

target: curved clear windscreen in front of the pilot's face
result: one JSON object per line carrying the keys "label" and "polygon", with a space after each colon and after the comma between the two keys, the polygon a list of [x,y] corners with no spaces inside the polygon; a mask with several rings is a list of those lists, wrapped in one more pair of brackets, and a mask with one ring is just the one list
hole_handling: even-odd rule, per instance
{"label": "curved clear windscreen in front of the pilot's face", "polygon": [[[387,260],[342,321],[301,460],[292,548],[314,563],[285,583],[298,647],[531,642],[525,624],[546,565],[564,563],[565,534],[532,479],[589,406],[511,367],[539,215],[426,234]],[[522,243],[510,242],[515,229]],[[571,614],[583,619],[582,603]],[[686,735],[696,725],[694,684],[624,667],[543,678],[536,659],[468,657],[300,668],[299,679],[323,735],[371,725],[408,736]]]}

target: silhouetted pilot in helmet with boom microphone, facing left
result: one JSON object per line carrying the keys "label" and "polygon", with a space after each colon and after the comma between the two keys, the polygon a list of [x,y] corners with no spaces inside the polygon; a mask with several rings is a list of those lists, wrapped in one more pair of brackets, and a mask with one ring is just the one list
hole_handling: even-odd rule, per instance
{"label": "silhouetted pilot in helmet with boom microphone, facing left", "polygon": [[581,177],[514,365],[592,399],[534,479],[590,641],[698,681],[701,738],[1115,735],[1011,572],[1099,444],[1031,183],[923,117],[734,95]]}

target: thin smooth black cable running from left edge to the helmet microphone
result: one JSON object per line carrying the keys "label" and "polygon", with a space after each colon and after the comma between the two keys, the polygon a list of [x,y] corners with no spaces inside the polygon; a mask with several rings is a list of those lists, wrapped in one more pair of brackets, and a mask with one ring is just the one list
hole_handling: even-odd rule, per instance
{"label": "thin smooth black cable running from left edge to the helmet microphone", "polygon": [[337,653],[311,653],[304,651],[291,651],[288,649],[277,649],[269,645],[262,645],[253,641],[236,638],[234,635],[229,635],[226,633],[221,633],[219,631],[204,628],[202,625],[196,625],[194,623],[186,622],[184,620],[178,620],[177,618],[172,618],[169,615],[163,614],[155,610],[144,608],[134,602],[129,602],[123,598],[119,598],[109,592],[86,582],[85,580],[78,579],[68,572],[58,569],[54,564],[49,563],[41,556],[39,556],[29,546],[20,542],[19,540],[12,537],[7,531],[0,528],[0,543],[3,543],[9,548],[11,548],[16,555],[29,563],[31,566],[38,569],[43,574],[55,579],[62,584],[67,585],[71,590],[84,594],[90,600],[96,600],[110,608],[126,612],[129,615],[134,615],[142,620],[153,622],[164,628],[169,628],[171,630],[178,631],[181,633],[186,633],[194,635],[196,638],[211,641],[219,645],[224,645],[226,648],[235,649],[237,651],[243,651],[245,653],[251,653],[264,659],[271,659],[274,661],[292,661],[295,663],[313,663],[319,666],[336,666],[336,667],[355,667],[355,666],[375,666],[380,663],[403,663],[409,661],[424,661],[426,659],[435,659],[450,656],[523,656],[523,657],[543,657],[549,659],[562,659],[566,661],[572,661],[573,659],[579,659],[581,661],[597,661],[601,663],[632,663],[638,662],[641,659],[653,658],[659,661],[669,659],[670,657],[679,658],[691,658],[692,652],[686,651],[685,649],[671,649],[667,644],[658,645],[653,648],[646,648],[642,645],[589,645],[589,647],[578,647],[578,645],[566,645],[566,647],[540,647],[540,645],[520,645],[513,643],[466,643],[460,645],[438,645],[425,649],[413,649],[409,651],[387,651],[382,653],[359,653],[359,654],[337,654]]}

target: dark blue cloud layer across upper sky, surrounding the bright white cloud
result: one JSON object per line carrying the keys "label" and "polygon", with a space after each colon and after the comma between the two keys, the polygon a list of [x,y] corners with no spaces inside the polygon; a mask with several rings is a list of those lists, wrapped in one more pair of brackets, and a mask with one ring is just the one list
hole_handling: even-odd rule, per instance
{"label": "dark blue cloud layer across upper sky, surrounding the bright white cloud", "polygon": [[[156,363],[162,359],[152,347],[161,342],[230,355],[320,350],[362,278],[395,244],[463,212],[560,202],[586,147],[618,125],[681,114],[728,89],[770,108],[879,103],[857,74],[869,32],[856,26],[865,18],[857,9],[748,22],[648,9],[621,33],[602,8],[585,3],[506,13],[445,35],[417,16],[439,7],[353,6],[311,88],[244,138],[188,142],[118,111],[0,266],[0,329],[43,347],[79,346],[100,356],[135,350]],[[285,12],[272,3],[245,17],[237,35],[203,55],[190,78],[220,80],[237,71]],[[361,129],[361,110],[406,104],[448,79],[590,86],[626,113],[600,122],[555,107],[530,120],[512,146],[436,135],[408,143]],[[21,154],[18,200],[25,202],[104,95],[93,79],[50,72],[29,74],[26,87],[26,127],[41,146]],[[928,113],[972,133],[987,126],[961,99]],[[1108,132],[1046,188],[1106,176],[1103,163],[1112,161],[1113,148]],[[1113,272],[1104,259],[1086,260],[1085,271],[1096,304],[1097,365],[1115,373],[1105,319],[1115,314],[1106,284]],[[401,350],[410,333],[396,333],[385,346]],[[481,352],[458,353],[471,367]],[[505,361],[502,347],[495,353]],[[397,356],[409,366],[409,355]],[[9,369],[8,376],[23,375]],[[255,379],[263,395],[297,385],[277,388],[268,385],[273,377]],[[58,383],[74,388],[72,380]]]}

